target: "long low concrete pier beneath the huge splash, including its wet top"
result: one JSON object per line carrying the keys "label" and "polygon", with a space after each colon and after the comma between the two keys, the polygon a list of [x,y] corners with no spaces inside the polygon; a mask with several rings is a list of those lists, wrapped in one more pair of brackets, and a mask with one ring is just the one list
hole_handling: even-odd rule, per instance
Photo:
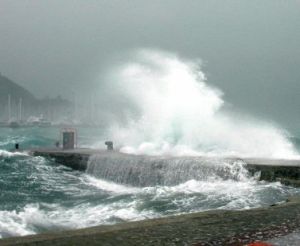
{"label": "long low concrete pier beneath the huge splash, including its wet top", "polygon": [[[74,149],[74,150],[60,150],[60,149],[39,149],[31,150],[30,153],[34,156],[43,156],[46,158],[53,158],[56,162],[65,166],[71,167],[75,170],[86,170],[88,162],[91,157],[101,157],[103,160],[125,160],[125,162],[145,163],[152,171],[162,169],[166,162],[176,162],[185,160],[186,157],[149,157],[123,154],[117,151],[100,151],[92,149]],[[205,162],[210,165],[210,162],[217,160],[213,157],[188,157],[189,160],[197,160],[198,162]],[[265,181],[280,181],[283,184],[300,187],[300,160],[276,160],[263,158],[237,158],[226,157],[219,158],[222,161],[234,162],[241,161],[244,167],[250,174],[260,173],[260,179]],[[122,165],[122,164],[120,164]],[[185,164],[184,164],[185,165]],[[151,171],[150,170],[150,171]],[[224,172],[221,170],[220,172]],[[159,177],[157,177],[159,180]]]}

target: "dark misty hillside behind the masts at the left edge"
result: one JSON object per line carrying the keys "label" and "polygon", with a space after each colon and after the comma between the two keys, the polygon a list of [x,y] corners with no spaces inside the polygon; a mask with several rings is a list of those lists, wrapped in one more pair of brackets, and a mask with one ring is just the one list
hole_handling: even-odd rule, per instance
{"label": "dark misty hillside behind the masts at the left edge", "polygon": [[7,105],[8,95],[11,96],[12,104],[19,103],[22,98],[24,105],[32,105],[36,98],[22,86],[0,74],[0,104],[2,107]]}

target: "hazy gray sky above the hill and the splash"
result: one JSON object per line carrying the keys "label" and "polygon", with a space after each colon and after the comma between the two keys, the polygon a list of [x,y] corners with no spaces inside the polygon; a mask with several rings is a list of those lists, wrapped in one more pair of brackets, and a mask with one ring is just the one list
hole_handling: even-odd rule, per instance
{"label": "hazy gray sky above the hill and the splash", "polygon": [[0,72],[37,96],[88,94],[143,47],[201,58],[235,108],[300,129],[299,0],[0,0]]}

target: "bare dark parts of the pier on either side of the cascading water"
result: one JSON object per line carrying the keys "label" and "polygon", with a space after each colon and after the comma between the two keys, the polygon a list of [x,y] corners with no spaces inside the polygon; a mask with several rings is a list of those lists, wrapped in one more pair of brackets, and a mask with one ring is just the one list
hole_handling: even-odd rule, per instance
{"label": "bare dark parts of the pier on either side of the cascading water", "polygon": [[[93,149],[36,149],[31,150],[34,156],[53,158],[57,163],[75,170],[84,171],[87,168],[89,158],[94,155],[113,157],[139,158],[136,155],[123,154],[117,151],[93,150]],[[181,158],[181,157],[170,157]],[[193,158],[193,157],[190,157]],[[205,157],[209,159],[209,157]],[[300,187],[300,160],[264,159],[264,158],[238,158],[226,157],[225,160],[242,160],[251,174],[260,172],[260,179],[265,181],[280,181],[283,184]]]}

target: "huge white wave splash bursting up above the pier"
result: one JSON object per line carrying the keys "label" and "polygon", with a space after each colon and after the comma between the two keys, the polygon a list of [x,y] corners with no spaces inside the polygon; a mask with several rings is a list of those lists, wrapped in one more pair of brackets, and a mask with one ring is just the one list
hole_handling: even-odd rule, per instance
{"label": "huge white wave splash bursting up above the pier", "polygon": [[112,122],[108,135],[122,152],[298,156],[285,130],[226,112],[223,92],[209,85],[199,61],[139,50],[112,69],[107,81],[102,89],[125,118]]}

